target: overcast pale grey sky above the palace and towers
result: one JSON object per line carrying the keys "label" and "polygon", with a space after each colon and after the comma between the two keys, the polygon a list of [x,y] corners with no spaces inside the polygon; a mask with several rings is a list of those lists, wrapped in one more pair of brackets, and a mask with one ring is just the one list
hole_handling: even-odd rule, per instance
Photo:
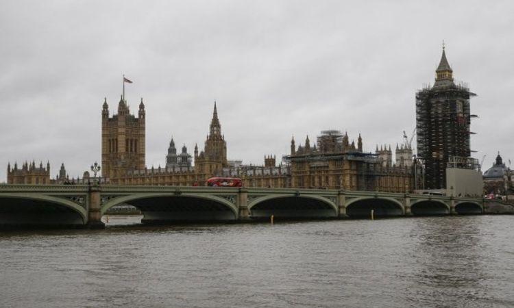
{"label": "overcast pale grey sky above the palace and towers", "polygon": [[[445,40],[471,101],[472,150],[514,162],[512,1],[1,1],[0,181],[8,162],[101,162],[101,105],[147,111],[146,163],[200,149],[217,101],[228,157],[262,164],[319,131],[365,150],[415,127]],[[312,142],[312,141],[311,141]]]}

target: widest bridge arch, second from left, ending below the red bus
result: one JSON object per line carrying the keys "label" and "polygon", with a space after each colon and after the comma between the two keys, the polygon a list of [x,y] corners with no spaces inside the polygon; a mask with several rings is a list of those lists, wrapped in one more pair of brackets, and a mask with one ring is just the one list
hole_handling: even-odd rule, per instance
{"label": "widest bridge arch, second from left, ending below the red bus", "polygon": [[[235,198],[234,198],[235,199]],[[237,220],[238,207],[220,196],[208,194],[138,193],[110,199],[101,214],[116,205],[132,205],[143,213],[143,222]]]}

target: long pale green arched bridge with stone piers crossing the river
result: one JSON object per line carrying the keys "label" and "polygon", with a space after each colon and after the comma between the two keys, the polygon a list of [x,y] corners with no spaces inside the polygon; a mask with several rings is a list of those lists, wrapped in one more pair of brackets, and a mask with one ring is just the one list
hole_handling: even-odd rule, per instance
{"label": "long pale green arched bridge with stone piers crossing the river", "polygon": [[482,214],[482,198],[293,188],[0,185],[0,225],[102,227],[111,207],[132,205],[143,223],[275,218]]}

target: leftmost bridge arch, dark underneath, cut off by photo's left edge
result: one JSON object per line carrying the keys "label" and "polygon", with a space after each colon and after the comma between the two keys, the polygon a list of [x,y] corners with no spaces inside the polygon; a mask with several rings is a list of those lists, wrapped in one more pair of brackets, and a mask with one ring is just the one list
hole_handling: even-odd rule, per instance
{"label": "leftmost bridge arch, dark underneath, cut off by photo's left edge", "polygon": [[45,194],[0,194],[0,225],[3,226],[84,225],[87,220],[86,209],[66,198]]}

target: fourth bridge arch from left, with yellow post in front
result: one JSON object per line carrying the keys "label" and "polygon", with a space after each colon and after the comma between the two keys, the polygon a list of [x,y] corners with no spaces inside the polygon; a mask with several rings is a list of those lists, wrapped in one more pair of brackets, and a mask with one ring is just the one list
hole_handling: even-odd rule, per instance
{"label": "fourth bridge arch from left, with yellow post in front", "polygon": [[346,215],[351,218],[369,217],[371,210],[377,217],[401,216],[404,214],[404,205],[395,198],[364,196],[352,198],[345,204]]}

